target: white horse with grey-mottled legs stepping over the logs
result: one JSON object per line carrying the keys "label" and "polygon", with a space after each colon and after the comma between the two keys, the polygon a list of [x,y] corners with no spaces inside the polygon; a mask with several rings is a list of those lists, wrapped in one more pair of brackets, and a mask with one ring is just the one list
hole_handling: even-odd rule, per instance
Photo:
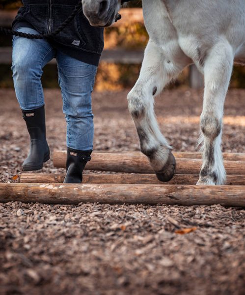
{"label": "white horse with grey-mottled legs stepping over the logs", "polygon": [[[92,26],[111,25],[120,5],[121,0],[82,0]],[[175,159],[155,118],[154,97],[194,63],[205,81],[200,118],[203,165],[197,184],[223,184],[223,106],[233,62],[245,64],[245,1],[142,0],[142,6],[150,39],[139,78],[127,97],[141,151],[160,180],[173,177]]]}

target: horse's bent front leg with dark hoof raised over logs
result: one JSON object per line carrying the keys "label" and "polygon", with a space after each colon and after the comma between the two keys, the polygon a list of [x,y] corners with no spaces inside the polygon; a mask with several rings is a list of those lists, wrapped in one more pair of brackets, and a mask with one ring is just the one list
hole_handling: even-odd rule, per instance
{"label": "horse's bent front leg with dark hoof raised over logs", "polygon": [[128,94],[128,107],[135,122],[140,149],[161,181],[169,181],[175,170],[171,147],[161,133],[155,113],[154,96],[174,78],[190,60],[178,45],[169,54],[149,41],[139,78]]}

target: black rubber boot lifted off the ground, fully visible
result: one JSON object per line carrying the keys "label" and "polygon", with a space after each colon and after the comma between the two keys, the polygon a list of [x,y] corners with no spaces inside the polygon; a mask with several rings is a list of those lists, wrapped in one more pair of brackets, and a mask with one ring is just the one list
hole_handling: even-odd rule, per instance
{"label": "black rubber boot lifted off the ground, fully visible", "polygon": [[22,110],[22,114],[30,135],[30,150],[22,167],[24,171],[39,170],[50,158],[50,149],[46,140],[44,106],[31,111]]}

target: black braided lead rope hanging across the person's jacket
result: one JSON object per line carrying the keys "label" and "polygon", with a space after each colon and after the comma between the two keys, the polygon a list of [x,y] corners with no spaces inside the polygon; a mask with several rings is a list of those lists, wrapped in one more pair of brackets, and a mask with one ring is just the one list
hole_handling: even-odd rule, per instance
{"label": "black braided lead rope hanging across the person's jacket", "polygon": [[55,29],[50,34],[40,34],[40,35],[27,34],[27,33],[23,33],[23,32],[14,31],[12,29],[5,29],[5,28],[2,28],[2,27],[0,27],[0,33],[4,33],[5,35],[20,36],[20,37],[24,37],[24,38],[27,38],[27,39],[48,39],[48,38],[53,38],[59,32],[61,32],[74,19],[74,17],[80,11],[82,11],[82,1],[79,1],[78,5],[74,8],[71,15],[63,22],[63,24],[61,24],[57,29]]}

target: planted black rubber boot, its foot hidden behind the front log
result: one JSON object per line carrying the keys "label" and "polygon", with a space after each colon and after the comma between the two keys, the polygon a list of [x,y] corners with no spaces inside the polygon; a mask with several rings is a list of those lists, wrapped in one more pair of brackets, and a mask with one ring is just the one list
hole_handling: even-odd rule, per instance
{"label": "planted black rubber boot, its foot hidden behind the front log", "polygon": [[91,160],[92,150],[67,148],[66,176],[64,183],[81,183],[82,172],[86,163]]}

